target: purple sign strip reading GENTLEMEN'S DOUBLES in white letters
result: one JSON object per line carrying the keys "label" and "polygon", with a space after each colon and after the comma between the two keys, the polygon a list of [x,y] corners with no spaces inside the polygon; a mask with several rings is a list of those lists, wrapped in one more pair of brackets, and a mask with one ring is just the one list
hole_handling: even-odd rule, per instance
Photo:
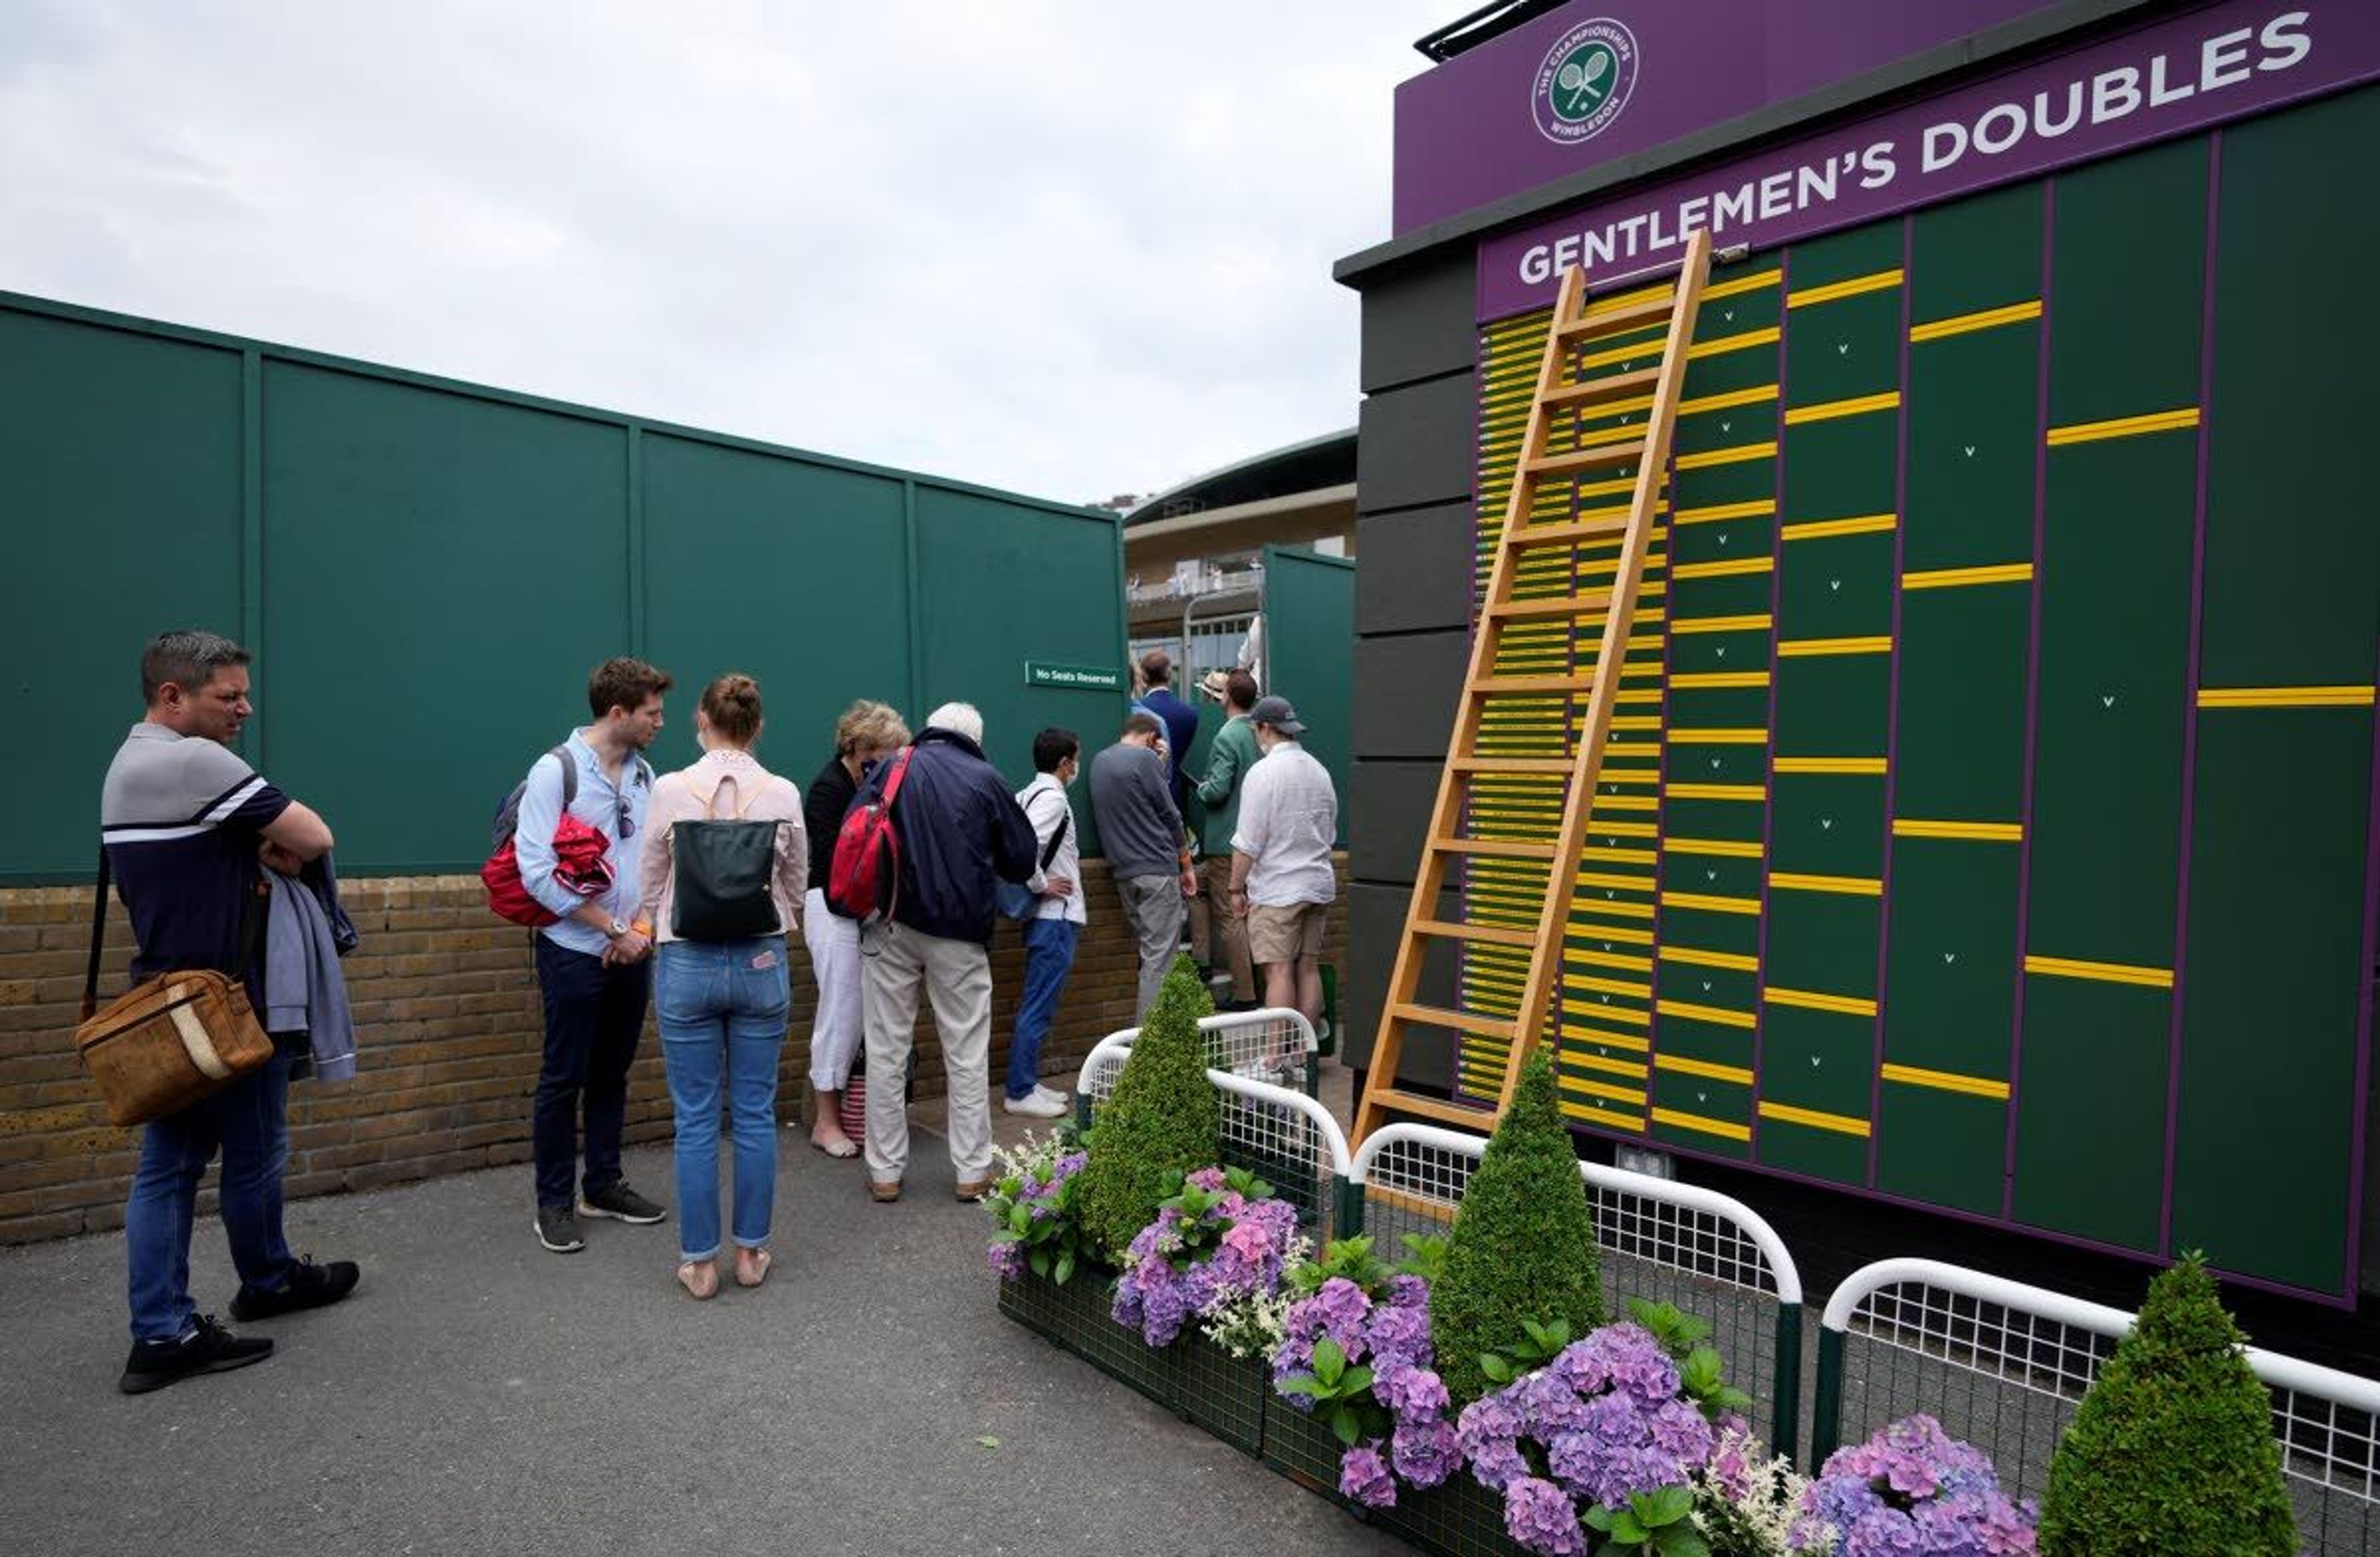
{"label": "purple sign strip reading GENTLEMEN'S DOUBLES in white letters", "polygon": [[[1697,229],[1709,229],[1718,248],[1771,248],[2375,76],[2380,5],[2373,0],[2228,0],[1488,238],[1478,317],[1552,302],[1566,269],[1585,267],[1597,286],[1659,271],[1676,264]],[[2340,148],[2340,155],[2366,150]]]}

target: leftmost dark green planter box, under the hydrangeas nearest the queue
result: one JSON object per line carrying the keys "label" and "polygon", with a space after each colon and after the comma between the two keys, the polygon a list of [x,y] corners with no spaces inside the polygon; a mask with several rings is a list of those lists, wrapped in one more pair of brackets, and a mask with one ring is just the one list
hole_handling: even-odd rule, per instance
{"label": "leftmost dark green planter box, under the hydrangeas nearest the queue", "polygon": [[1264,1359],[1233,1357],[1195,1328],[1152,1347],[1109,1319],[1114,1293],[1114,1271],[1083,1269],[1066,1286],[1026,1271],[1000,1283],[1000,1312],[1223,1443],[1259,1452],[1271,1395]]}

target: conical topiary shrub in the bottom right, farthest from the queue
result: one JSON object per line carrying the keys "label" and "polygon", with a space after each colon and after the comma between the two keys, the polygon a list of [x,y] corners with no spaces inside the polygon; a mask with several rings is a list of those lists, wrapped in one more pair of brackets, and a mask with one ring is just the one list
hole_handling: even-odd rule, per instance
{"label": "conical topiary shrub in the bottom right, farthest from the queue", "polygon": [[2290,1557],[2273,1397],[2202,1255],[2149,1283],[2140,1321],[2049,1462],[2042,1557]]}

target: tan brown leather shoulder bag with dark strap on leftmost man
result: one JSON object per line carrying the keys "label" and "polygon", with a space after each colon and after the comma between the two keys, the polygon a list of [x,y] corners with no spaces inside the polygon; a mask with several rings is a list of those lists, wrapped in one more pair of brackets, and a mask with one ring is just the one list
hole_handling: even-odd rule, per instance
{"label": "tan brown leather shoulder bag with dark strap on leftmost man", "polygon": [[[257,895],[240,905],[240,962],[255,959],[264,924]],[[90,909],[90,967],[83,974],[83,1024],[74,1052],[107,1102],[114,1126],[148,1124],[224,1090],[274,1057],[248,1005],[248,986],[214,969],[143,978],[100,1009],[100,948],[107,940],[107,845],[100,845],[98,898]]]}

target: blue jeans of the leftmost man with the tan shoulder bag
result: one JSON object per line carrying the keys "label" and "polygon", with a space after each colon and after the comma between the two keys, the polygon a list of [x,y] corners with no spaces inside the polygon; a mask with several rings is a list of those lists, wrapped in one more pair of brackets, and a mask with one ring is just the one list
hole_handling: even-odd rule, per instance
{"label": "blue jeans of the leftmost man with the tan shoulder bag", "polygon": [[281,1169],[290,1157],[288,1095],[295,1050],[274,1057],[221,1093],[152,1119],[140,1131],[140,1167],[124,1202],[126,1293],[133,1340],[176,1340],[190,1331],[190,1226],[198,1181],[224,1152],[221,1214],[243,1290],[274,1290],[295,1259],[281,1236]]}

